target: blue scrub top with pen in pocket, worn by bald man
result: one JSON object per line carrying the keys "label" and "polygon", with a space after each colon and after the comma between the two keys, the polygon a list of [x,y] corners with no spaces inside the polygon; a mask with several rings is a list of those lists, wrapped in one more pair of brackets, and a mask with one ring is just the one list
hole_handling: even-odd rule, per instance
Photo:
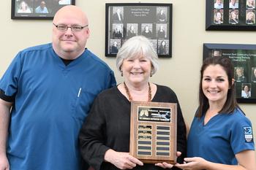
{"label": "blue scrub top with pen in pocket, worn by bald man", "polygon": [[5,95],[15,96],[10,169],[80,169],[81,125],[97,94],[113,85],[113,71],[89,50],[67,66],[51,44],[18,53],[0,80]]}

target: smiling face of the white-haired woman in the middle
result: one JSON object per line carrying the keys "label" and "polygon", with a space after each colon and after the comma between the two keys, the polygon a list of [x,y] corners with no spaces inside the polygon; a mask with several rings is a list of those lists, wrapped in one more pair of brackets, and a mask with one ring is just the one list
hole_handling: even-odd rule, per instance
{"label": "smiling face of the white-haired woman in the middle", "polygon": [[144,84],[148,82],[151,73],[151,61],[139,55],[135,58],[124,59],[121,65],[125,82],[129,84]]}

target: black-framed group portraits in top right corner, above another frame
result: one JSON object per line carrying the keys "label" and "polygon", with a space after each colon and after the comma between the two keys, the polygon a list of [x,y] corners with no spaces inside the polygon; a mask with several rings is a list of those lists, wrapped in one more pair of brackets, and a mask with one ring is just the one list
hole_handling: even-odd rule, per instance
{"label": "black-framed group portraits in top right corner, above another frame", "polygon": [[206,0],[206,31],[256,31],[256,0]]}

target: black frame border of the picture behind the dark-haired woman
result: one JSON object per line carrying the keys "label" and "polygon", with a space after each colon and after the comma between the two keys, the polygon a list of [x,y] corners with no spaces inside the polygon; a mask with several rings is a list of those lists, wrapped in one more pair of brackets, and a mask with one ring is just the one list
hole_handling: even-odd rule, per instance
{"label": "black frame border of the picture behind the dark-haired woman", "polygon": [[[203,60],[209,57],[208,55],[209,50],[256,50],[256,45],[203,43]],[[244,84],[246,83],[248,82],[244,82]],[[254,90],[256,90],[256,88]],[[238,98],[237,97],[236,100],[238,101],[238,103],[256,104],[256,97],[255,98]]]}

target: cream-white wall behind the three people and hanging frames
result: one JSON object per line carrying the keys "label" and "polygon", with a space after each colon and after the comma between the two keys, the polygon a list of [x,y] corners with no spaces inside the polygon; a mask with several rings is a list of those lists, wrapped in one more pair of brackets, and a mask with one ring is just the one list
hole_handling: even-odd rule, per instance
{"label": "cream-white wall behind the three people and hanging frames", "polygon": [[[105,3],[137,3],[134,0],[76,0],[89,17],[91,37],[87,47],[107,62],[122,82],[116,70],[115,58],[105,57]],[[197,109],[199,70],[203,58],[203,43],[256,44],[252,31],[205,31],[206,1],[143,0],[141,3],[173,4],[173,58],[161,58],[160,69],[151,82],[172,88],[181,103],[187,123]],[[1,1],[0,77],[19,50],[51,41],[52,20],[11,20],[11,1]],[[256,104],[240,104],[252,121],[256,134]]]}

